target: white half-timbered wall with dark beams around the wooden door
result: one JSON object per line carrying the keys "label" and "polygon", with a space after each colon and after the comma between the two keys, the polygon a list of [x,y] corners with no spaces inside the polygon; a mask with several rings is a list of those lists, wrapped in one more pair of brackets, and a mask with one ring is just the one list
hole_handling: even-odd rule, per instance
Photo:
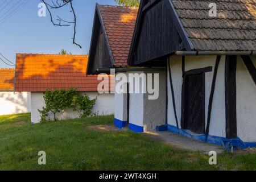
{"label": "white half-timbered wall with dark beams around the wooden door", "polygon": [[[256,65],[256,57],[250,56],[254,66]],[[213,94],[212,110],[210,116],[209,135],[226,138],[226,103],[230,98],[225,96],[225,62],[226,56],[221,56],[220,64],[217,69],[216,83]],[[170,62],[167,64],[171,70],[172,84],[174,87],[175,109],[179,128],[181,126],[181,103],[182,103],[182,86],[183,86],[183,64],[182,56],[171,56]],[[184,71],[187,72],[192,69],[213,67],[212,71],[205,73],[205,127],[207,127],[208,106],[210,91],[212,88],[214,64],[216,63],[216,56],[185,56]],[[169,75],[170,72],[167,72]],[[227,74],[227,73],[226,73]],[[170,85],[170,77],[167,77],[168,89],[168,125],[177,126],[175,118],[174,104],[172,100],[172,91]],[[243,142],[256,141],[256,85],[250,72],[246,68],[241,56],[237,56],[236,65],[236,86],[234,89],[236,95],[236,122],[237,137]],[[232,88],[230,88],[232,89]],[[235,137],[236,138],[236,137]]]}

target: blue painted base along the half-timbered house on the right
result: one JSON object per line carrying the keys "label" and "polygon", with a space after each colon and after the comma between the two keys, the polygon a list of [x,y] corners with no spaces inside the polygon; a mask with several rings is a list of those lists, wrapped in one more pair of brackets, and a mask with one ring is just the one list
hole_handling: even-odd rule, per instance
{"label": "blue painted base along the half-timbered house on the right", "polygon": [[210,144],[217,144],[218,146],[223,146],[227,150],[230,150],[233,146],[234,150],[244,149],[248,147],[256,147],[256,142],[243,142],[240,138],[228,139],[224,137],[216,137],[212,135],[205,134],[193,134],[189,130],[178,129],[176,126],[168,125],[168,131],[178,135],[183,135],[184,137],[193,138],[201,142],[207,142]]}

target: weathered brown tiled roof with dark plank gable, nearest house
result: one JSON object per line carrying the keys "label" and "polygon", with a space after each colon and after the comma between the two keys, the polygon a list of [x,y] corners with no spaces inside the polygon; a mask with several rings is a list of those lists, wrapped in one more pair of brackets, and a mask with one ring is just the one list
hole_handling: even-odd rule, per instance
{"label": "weathered brown tiled roof with dark plank gable, nearest house", "polygon": [[[154,24],[156,20],[164,23],[159,25],[162,27],[159,28],[160,32],[166,27],[168,30],[166,28],[159,35],[143,35],[143,39],[149,42],[144,45],[146,48],[155,44],[151,39],[158,36],[158,49],[148,51],[144,57],[139,55],[138,59],[141,60],[138,60],[138,63],[170,55],[176,51],[256,51],[256,1],[216,0],[216,17],[209,16],[210,3],[212,1],[209,0],[141,0],[128,63],[133,65],[136,62],[137,50],[143,47],[138,47],[138,42],[142,39],[143,26],[148,27],[148,24]],[[165,13],[161,13],[163,11]],[[163,19],[167,18],[169,20],[164,22]],[[180,39],[178,42],[176,31]],[[173,35],[169,36],[170,34]],[[171,37],[168,43],[164,40],[166,36],[169,36],[167,39]],[[163,39],[162,42],[160,39]],[[182,45],[177,45],[179,43]],[[164,49],[165,47],[170,48]],[[155,53],[159,49],[163,51]]]}

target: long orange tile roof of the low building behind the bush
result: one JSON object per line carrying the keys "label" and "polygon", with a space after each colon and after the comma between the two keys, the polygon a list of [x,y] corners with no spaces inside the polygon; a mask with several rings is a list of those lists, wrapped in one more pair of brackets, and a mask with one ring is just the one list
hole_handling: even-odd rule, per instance
{"label": "long orange tile roof of the low building behind the bush", "polygon": [[86,76],[88,56],[17,54],[15,92],[77,88],[97,91],[97,76]]}

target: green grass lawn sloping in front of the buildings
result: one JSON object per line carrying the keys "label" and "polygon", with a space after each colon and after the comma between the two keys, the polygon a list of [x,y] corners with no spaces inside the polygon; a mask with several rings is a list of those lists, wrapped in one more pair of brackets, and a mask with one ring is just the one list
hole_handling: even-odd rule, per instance
{"label": "green grass lawn sloping in front of the buildings", "polygon": [[[255,170],[256,154],[208,155],[177,150],[130,131],[102,132],[113,116],[30,125],[30,114],[0,117],[0,170]],[[47,165],[39,166],[38,152]]]}

